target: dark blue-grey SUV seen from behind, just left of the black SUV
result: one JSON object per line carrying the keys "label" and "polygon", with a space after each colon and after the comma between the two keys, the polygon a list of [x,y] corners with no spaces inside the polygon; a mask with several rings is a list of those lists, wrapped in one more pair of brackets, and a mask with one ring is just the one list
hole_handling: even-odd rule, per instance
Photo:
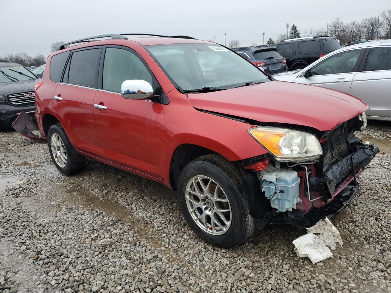
{"label": "dark blue-grey SUV seen from behind, just left of the black SUV", "polygon": [[288,70],[285,58],[278,54],[275,48],[269,48],[267,45],[240,47],[232,50],[262,68],[266,73],[275,74]]}

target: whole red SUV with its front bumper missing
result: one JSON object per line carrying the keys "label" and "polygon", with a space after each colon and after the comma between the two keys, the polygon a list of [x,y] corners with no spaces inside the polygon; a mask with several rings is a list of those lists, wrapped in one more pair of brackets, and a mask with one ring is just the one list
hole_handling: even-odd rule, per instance
{"label": "whole red SUV with its front bumper missing", "polygon": [[[88,157],[176,189],[188,225],[220,247],[264,223],[337,215],[378,152],[354,136],[364,102],[274,81],[216,43],[104,35],[63,45],[46,67],[36,138],[57,169],[74,175]],[[34,137],[28,118],[14,127]]]}

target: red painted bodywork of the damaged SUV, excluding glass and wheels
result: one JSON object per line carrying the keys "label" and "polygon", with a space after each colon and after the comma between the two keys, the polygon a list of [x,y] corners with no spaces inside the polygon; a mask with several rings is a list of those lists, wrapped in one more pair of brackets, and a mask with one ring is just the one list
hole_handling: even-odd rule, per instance
{"label": "red painted bodywork of the damaged SUV, excluding glass and wheels", "polygon": [[[50,114],[60,121],[80,153],[170,187],[171,159],[180,145],[199,145],[230,161],[267,154],[267,150],[248,134],[248,129],[254,125],[199,109],[318,130],[331,130],[368,109],[364,102],[344,93],[279,81],[185,95],[175,89],[143,47],[169,43],[209,42],[178,38],[109,39],[52,53],[47,68],[50,68],[53,55],[68,50],[97,45],[132,48],[153,72],[169,104],[127,100],[99,89],[58,84],[50,80],[49,70],[45,70],[43,85],[36,92],[36,118],[41,131],[44,132],[45,115]],[[54,100],[54,95],[63,100]],[[100,111],[93,107],[94,103],[108,109]]]}

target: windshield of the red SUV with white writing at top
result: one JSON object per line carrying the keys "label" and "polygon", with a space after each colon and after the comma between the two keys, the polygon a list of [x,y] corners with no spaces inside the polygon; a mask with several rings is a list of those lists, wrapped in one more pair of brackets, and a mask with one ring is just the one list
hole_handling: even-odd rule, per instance
{"label": "windshield of the red SUV with white writing at top", "polygon": [[230,89],[270,81],[256,66],[217,44],[153,45],[147,46],[147,50],[183,92]]}

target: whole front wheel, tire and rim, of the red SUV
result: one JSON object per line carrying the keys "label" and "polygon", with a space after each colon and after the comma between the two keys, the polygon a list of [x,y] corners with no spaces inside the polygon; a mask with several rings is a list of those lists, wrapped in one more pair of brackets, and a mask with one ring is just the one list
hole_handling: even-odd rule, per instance
{"label": "whole front wheel, tire and rim, of the red SUV", "polygon": [[[208,185],[209,181],[211,183]],[[202,189],[203,196],[195,195],[195,186],[199,191]],[[208,189],[209,196],[204,196]],[[250,215],[248,196],[240,184],[239,172],[230,161],[220,155],[205,155],[183,168],[178,181],[178,201],[190,228],[199,238],[212,245],[233,247],[245,241],[255,231],[255,220]],[[219,214],[224,216],[225,221]],[[204,225],[205,219],[207,225]]]}

